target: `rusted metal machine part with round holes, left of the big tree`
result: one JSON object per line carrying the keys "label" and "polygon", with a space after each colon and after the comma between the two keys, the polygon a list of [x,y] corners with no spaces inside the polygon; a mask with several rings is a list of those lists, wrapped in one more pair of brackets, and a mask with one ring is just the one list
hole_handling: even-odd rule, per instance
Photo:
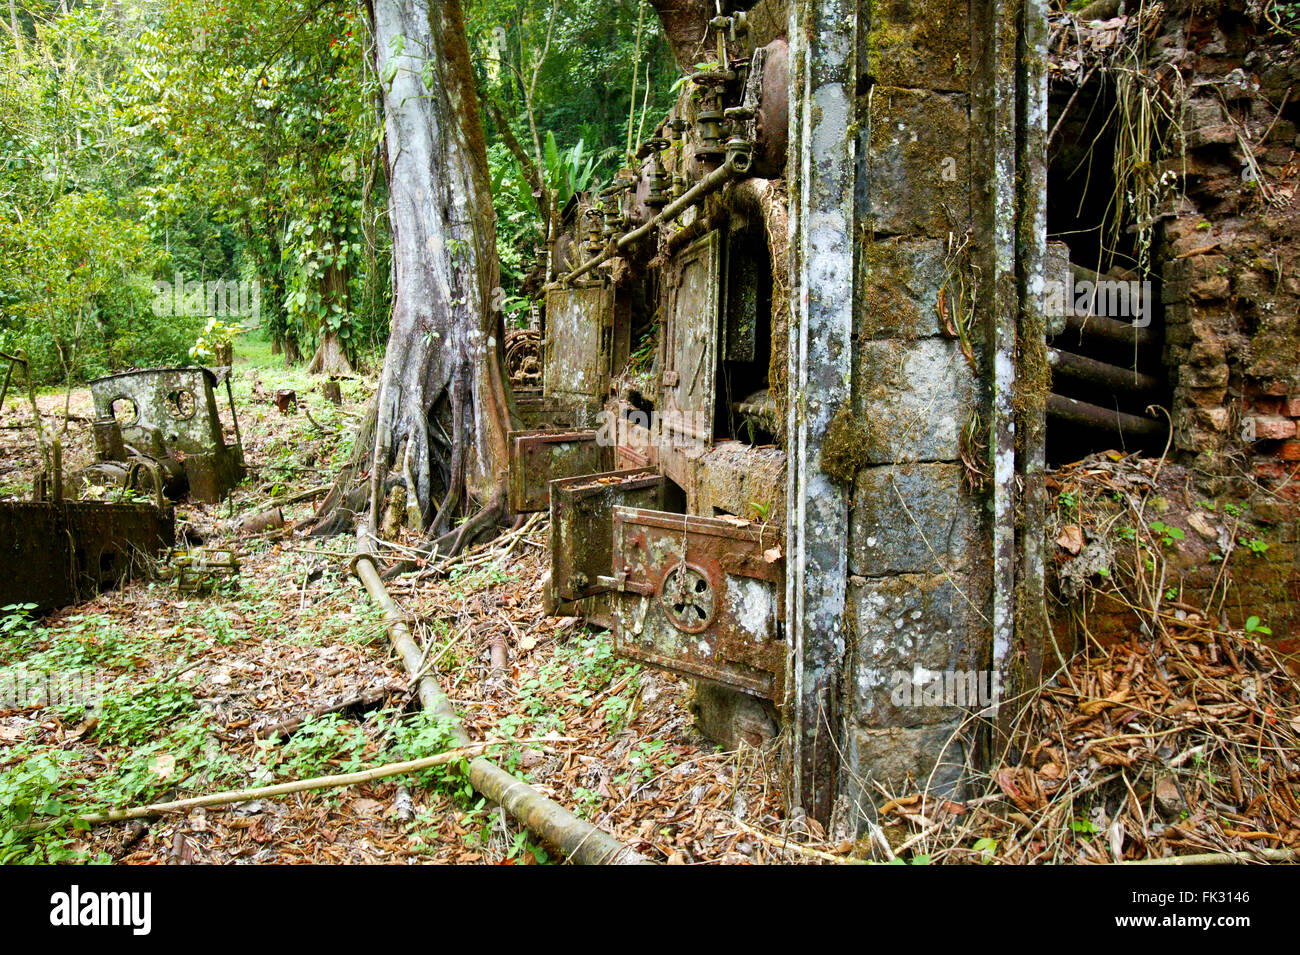
{"label": "rusted metal machine part with round holes, left of the big tree", "polygon": [[[216,386],[226,386],[235,444],[225,442]],[[214,504],[244,476],[243,442],[228,369],[155,368],[90,383],[95,399],[95,464],[83,477],[127,483],[133,463],[159,466],[169,496]]]}

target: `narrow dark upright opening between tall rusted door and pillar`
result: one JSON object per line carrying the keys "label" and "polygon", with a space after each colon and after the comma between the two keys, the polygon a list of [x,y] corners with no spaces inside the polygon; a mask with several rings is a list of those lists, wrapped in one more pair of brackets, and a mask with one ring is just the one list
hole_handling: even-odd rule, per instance
{"label": "narrow dark upright opening between tall rusted door and pillar", "polygon": [[777,414],[768,391],[772,259],[757,217],[733,220],[723,269],[714,438],[770,444]]}

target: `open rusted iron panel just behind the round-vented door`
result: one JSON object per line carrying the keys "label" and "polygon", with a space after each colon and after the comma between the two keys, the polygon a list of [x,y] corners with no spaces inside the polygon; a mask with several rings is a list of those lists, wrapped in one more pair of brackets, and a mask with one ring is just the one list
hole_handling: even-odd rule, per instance
{"label": "open rusted iron panel just behind the round-vented door", "polygon": [[663,509],[664,478],[650,468],[551,482],[551,579],[562,599],[607,589],[614,573],[614,508]]}

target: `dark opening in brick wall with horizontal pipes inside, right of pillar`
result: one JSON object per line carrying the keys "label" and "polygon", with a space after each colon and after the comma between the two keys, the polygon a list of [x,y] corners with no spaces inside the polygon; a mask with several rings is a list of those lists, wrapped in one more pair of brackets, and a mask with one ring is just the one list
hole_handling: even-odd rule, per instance
{"label": "dark opening in brick wall with horizontal pipes inside, right of pillar", "polygon": [[1072,87],[1052,90],[1048,240],[1069,248],[1069,269],[1046,275],[1050,464],[1106,450],[1158,453],[1167,437],[1166,418],[1148,412],[1170,401],[1161,363],[1160,227],[1145,223],[1153,251],[1144,256],[1143,230],[1124,217],[1114,225],[1130,201],[1115,173],[1118,117],[1105,78],[1078,95]]}

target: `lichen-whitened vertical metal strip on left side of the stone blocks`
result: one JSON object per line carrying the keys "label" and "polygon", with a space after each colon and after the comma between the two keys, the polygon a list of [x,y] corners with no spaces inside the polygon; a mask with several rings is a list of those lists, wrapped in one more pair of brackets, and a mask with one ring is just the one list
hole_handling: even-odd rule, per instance
{"label": "lichen-whitened vertical metal strip on left side of the stone blocks", "polygon": [[849,489],[823,470],[853,353],[855,0],[790,5],[786,633],[792,802],[836,794]]}

